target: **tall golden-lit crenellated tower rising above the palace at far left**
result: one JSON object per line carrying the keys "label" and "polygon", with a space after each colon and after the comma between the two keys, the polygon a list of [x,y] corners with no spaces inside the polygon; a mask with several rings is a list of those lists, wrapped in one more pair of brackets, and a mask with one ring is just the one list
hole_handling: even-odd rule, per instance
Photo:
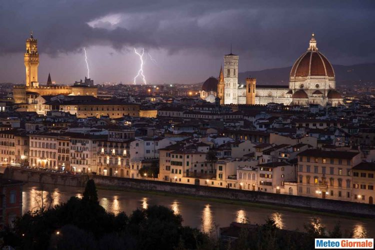
{"label": "tall golden-lit crenellated tower rising above the palace at far left", "polygon": [[38,86],[38,65],[39,53],[37,50],[37,40],[32,36],[26,39],[26,52],[23,55],[24,66],[26,68],[26,87]]}

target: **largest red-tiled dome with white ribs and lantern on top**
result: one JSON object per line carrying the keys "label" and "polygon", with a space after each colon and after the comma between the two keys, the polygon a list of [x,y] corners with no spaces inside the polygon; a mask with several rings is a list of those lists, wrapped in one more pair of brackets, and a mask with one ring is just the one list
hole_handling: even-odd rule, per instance
{"label": "largest red-tiled dome with white ribs and lantern on top", "polygon": [[334,71],[328,59],[317,51],[316,40],[314,34],[312,34],[310,46],[294,62],[291,67],[290,77],[315,75],[334,77]]}

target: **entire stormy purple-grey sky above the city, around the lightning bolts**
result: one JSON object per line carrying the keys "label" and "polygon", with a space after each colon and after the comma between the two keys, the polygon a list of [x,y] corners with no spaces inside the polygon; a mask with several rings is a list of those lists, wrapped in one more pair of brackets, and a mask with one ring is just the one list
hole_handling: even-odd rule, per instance
{"label": "entire stormy purple-grey sky above the city, around the lightning bolts", "polygon": [[[0,82],[24,80],[24,41],[38,39],[39,82],[87,75],[95,83],[130,83],[147,56],[149,83],[196,83],[217,76],[222,56],[239,71],[291,66],[315,33],[333,64],[374,62],[375,1],[344,0],[3,0]],[[140,83],[140,81],[138,81]]]}

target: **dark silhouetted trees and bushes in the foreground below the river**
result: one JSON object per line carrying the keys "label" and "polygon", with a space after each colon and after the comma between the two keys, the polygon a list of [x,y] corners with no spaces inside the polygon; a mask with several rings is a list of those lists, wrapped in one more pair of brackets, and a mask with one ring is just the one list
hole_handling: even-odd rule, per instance
{"label": "dark silhouetted trees and bushes in the foreground below the river", "polygon": [[[43,201],[43,199],[42,199]],[[271,219],[226,231],[235,237],[218,237],[214,228],[204,233],[182,226],[182,217],[167,207],[136,209],[129,216],[108,213],[99,205],[93,180],[83,197],[71,197],[56,206],[42,205],[19,217],[1,231],[2,246],[15,249],[313,249],[316,237],[350,237],[339,225],[326,232],[317,219],[305,225],[306,232],[282,230]],[[225,230],[221,230],[224,234]]]}

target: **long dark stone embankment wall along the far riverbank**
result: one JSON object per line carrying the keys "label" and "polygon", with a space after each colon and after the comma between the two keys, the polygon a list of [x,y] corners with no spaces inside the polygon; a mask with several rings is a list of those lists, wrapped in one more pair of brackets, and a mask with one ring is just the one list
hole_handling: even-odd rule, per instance
{"label": "long dark stone embankment wall along the far riverbank", "polygon": [[4,174],[6,174],[5,176],[7,178],[17,180],[79,187],[84,186],[88,178],[92,178],[97,185],[116,190],[166,192],[178,195],[266,203],[281,207],[297,207],[322,212],[334,212],[365,217],[375,216],[375,205],[332,199],[103,175],[66,175],[22,168],[7,168]]}

